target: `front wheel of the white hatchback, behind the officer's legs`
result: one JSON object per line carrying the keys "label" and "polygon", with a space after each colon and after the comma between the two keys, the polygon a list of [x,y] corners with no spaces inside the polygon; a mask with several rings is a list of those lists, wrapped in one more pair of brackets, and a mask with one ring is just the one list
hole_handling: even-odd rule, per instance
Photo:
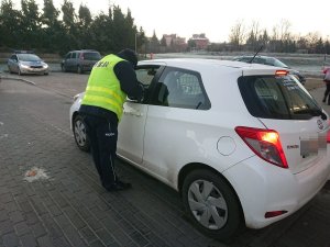
{"label": "front wheel of the white hatchback, behind the officer's legs", "polygon": [[80,115],[75,115],[73,121],[73,132],[78,148],[82,151],[89,151],[90,145],[86,134],[86,125]]}

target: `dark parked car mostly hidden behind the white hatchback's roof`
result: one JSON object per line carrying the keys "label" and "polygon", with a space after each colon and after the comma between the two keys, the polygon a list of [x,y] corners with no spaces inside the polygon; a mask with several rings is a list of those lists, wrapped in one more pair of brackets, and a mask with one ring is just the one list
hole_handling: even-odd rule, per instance
{"label": "dark parked car mostly hidden behind the white hatchback's roof", "polygon": [[287,66],[282,60],[279,60],[275,57],[255,56],[253,60],[252,60],[252,58],[253,58],[252,55],[251,56],[239,56],[239,57],[234,57],[233,60],[253,63],[253,64],[262,64],[262,65],[271,65],[271,66],[276,66],[276,67],[280,67],[280,68],[286,68],[289,70],[289,72],[292,75],[296,76],[302,85],[306,82],[306,78],[304,75],[301,75],[298,70],[292,69],[289,66]]}

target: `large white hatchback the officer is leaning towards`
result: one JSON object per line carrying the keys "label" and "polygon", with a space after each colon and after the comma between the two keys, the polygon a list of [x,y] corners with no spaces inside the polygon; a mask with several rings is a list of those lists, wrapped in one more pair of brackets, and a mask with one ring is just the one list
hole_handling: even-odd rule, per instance
{"label": "large white hatchback the officer is leaning towards", "polygon": [[[329,115],[287,70],[188,58],[140,61],[136,75],[148,96],[124,103],[118,155],[176,189],[202,233],[267,226],[327,182]],[[81,97],[70,121],[88,150]]]}

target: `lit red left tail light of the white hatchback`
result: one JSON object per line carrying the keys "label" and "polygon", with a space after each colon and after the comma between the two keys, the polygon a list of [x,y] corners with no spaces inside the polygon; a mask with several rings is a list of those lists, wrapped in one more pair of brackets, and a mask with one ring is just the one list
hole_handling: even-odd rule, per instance
{"label": "lit red left tail light of the white hatchback", "polygon": [[276,131],[238,126],[235,132],[258,157],[278,167],[288,168]]}

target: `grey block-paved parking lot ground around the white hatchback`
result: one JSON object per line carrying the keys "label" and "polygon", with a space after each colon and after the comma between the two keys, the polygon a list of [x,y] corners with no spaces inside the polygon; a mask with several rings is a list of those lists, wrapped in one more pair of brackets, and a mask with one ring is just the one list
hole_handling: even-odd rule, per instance
{"label": "grey block-paved parking lot ground around the white hatchback", "polygon": [[[72,98],[87,80],[77,74],[2,74],[0,247],[330,246],[329,181],[296,214],[221,243],[190,225],[175,191],[121,160],[118,172],[133,189],[107,192],[69,128]],[[322,83],[310,81],[308,89],[320,102]]]}

